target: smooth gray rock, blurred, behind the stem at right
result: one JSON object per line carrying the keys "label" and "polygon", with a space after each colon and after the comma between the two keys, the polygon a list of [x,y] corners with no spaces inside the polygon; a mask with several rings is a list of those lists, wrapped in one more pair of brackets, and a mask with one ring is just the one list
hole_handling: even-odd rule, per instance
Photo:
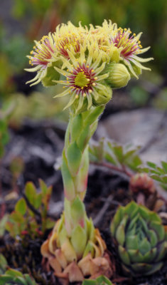
{"label": "smooth gray rock, blurred, behind the stem at right", "polygon": [[141,158],[167,161],[167,115],[160,110],[138,109],[110,115],[99,123],[97,138],[141,146]]}

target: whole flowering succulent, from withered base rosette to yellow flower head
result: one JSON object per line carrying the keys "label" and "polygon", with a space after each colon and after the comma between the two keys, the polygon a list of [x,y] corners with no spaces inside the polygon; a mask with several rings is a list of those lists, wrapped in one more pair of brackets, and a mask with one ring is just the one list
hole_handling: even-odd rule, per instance
{"label": "whole flowering succulent, from withered base rosette to yellow flower head", "polygon": [[138,78],[141,58],[149,48],[142,48],[130,29],[117,28],[112,21],[102,26],[78,27],[61,24],[55,33],[36,41],[27,71],[37,71],[28,83],[43,86],[62,84],[68,96],[70,120],[65,134],[61,172],[64,185],[64,212],[50,237],[41,247],[43,264],[60,278],[83,281],[85,276],[112,276],[106,244],[87,217],[83,199],[87,190],[89,168],[88,143],[97,128],[99,115],[112,98],[112,88],[126,86]]}

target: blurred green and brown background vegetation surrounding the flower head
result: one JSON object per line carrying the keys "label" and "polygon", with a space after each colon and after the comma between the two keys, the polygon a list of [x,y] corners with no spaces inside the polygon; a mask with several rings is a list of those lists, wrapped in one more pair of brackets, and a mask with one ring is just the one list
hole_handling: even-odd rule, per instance
{"label": "blurred green and brown background vegetation surrounding the flower head", "polygon": [[[1,0],[0,1],[0,104],[6,108],[14,103],[11,122],[19,125],[23,118],[63,117],[62,100],[55,101],[57,88],[44,89],[40,84],[30,88],[26,81],[26,55],[34,39],[41,39],[61,22],[77,25],[102,24],[112,19],[118,26],[134,33],[143,31],[142,46],[151,46],[146,57],[151,73],[144,72],[139,81],[117,91],[109,113],[129,108],[153,106],[167,108],[167,1],[166,0]],[[64,99],[63,99],[64,100]]]}

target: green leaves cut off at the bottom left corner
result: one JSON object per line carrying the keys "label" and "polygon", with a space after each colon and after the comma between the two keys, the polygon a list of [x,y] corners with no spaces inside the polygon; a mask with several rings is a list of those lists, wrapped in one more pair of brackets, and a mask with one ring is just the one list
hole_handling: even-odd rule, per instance
{"label": "green leaves cut off at the bottom left corner", "polygon": [[8,269],[5,274],[0,275],[0,285],[38,285],[29,274],[22,274],[20,271]]}

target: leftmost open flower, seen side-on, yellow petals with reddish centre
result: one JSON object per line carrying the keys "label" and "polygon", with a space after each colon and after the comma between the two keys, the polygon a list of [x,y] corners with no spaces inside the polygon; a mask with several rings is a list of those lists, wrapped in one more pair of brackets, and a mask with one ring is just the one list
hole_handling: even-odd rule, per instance
{"label": "leftmost open flower, seen side-on, yellow petals with reddish centre", "polygon": [[53,41],[53,35],[51,33],[48,36],[43,36],[41,41],[35,41],[36,46],[33,46],[31,56],[28,56],[29,63],[33,68],[26,68],[25,71],[35,72],[36,76],[26,83],[32,83],[31,86],[38,84],[45,78],[47,74],[47,68],[52,66],[54,61],[57,61],[56,55],[58,51],[55,48],[55,42]]}

